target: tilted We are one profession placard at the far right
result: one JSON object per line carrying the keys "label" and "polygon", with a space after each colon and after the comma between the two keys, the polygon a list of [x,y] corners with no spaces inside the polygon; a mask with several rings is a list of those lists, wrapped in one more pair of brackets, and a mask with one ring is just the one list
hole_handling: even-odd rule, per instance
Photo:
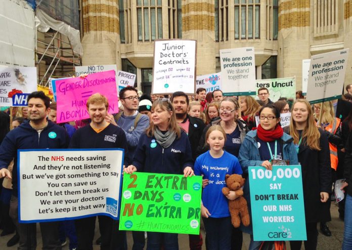
{"label": "tilted We are one profession placard at the far right", "polygon": [[311,57],[306,100],[311,104],[340,99],[349,49]]}

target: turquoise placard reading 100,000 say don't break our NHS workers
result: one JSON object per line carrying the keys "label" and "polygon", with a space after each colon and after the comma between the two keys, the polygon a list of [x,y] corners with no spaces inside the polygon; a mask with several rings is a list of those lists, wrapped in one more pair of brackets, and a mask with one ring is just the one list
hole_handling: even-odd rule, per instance
{"label": "turquoise placard reading 100,000 say don't break our NHS workers", "polygon": [[306,240],[301,166],[249,166],[248,177],[254,240]]}

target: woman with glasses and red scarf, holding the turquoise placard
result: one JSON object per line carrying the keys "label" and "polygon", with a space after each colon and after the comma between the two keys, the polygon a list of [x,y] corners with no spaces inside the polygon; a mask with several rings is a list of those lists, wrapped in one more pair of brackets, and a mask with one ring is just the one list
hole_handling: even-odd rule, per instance
{"label": "woman with glasses and red scarf, holding the turquoise placard", "polygon": [[[280,126],[279,109],[272,104],[263,106],[259,110],[259,121],[257,130],[247,133],[239,152],[243,173],[248,174],[248,166],[263,166],[272,170],[272,160],[286,161],[291,165],[298,164],[293,139],[285,134]],[[248,179],[244,184],[243,196],[251,213]],[[252,225],[248,227],[241,225],[240,228],[250,234],[249,249],[259,249],[261,241],[253,241]]]}

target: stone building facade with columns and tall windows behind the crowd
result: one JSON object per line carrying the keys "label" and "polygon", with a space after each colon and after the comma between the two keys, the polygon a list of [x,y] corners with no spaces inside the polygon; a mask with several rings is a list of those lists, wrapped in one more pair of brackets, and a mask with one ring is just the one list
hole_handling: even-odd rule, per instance
{"label": "stone building facade with columns and tall windows behind the crowd", "polygon": [[[197,75],[219,50],[255,48],[257,79],[296,76],[302,60],[352,47],[352,0],[81,0],[82,65],[117,64],[150,91],[155,39],[196,39]],[[352,84],[352,48],[345,85]]]}

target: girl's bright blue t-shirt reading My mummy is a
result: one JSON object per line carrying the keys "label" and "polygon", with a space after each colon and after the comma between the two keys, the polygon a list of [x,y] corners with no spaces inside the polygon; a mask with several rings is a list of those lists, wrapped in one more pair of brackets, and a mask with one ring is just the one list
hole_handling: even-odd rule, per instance
{"label": "girl's bright blue t-shirt reading My mummy is a", "polygon": [[203,179],[209,180],[208,185],[203,189],[202,202],[211,214],[210,217],[229,217],[228,198],[223,194],[222,189],[226,187],[225,176],[227,174],[242,174],[237,157],[224,151],[222,157],[213,158],[207,151],[197,157],[194,174],[203,175]]}

